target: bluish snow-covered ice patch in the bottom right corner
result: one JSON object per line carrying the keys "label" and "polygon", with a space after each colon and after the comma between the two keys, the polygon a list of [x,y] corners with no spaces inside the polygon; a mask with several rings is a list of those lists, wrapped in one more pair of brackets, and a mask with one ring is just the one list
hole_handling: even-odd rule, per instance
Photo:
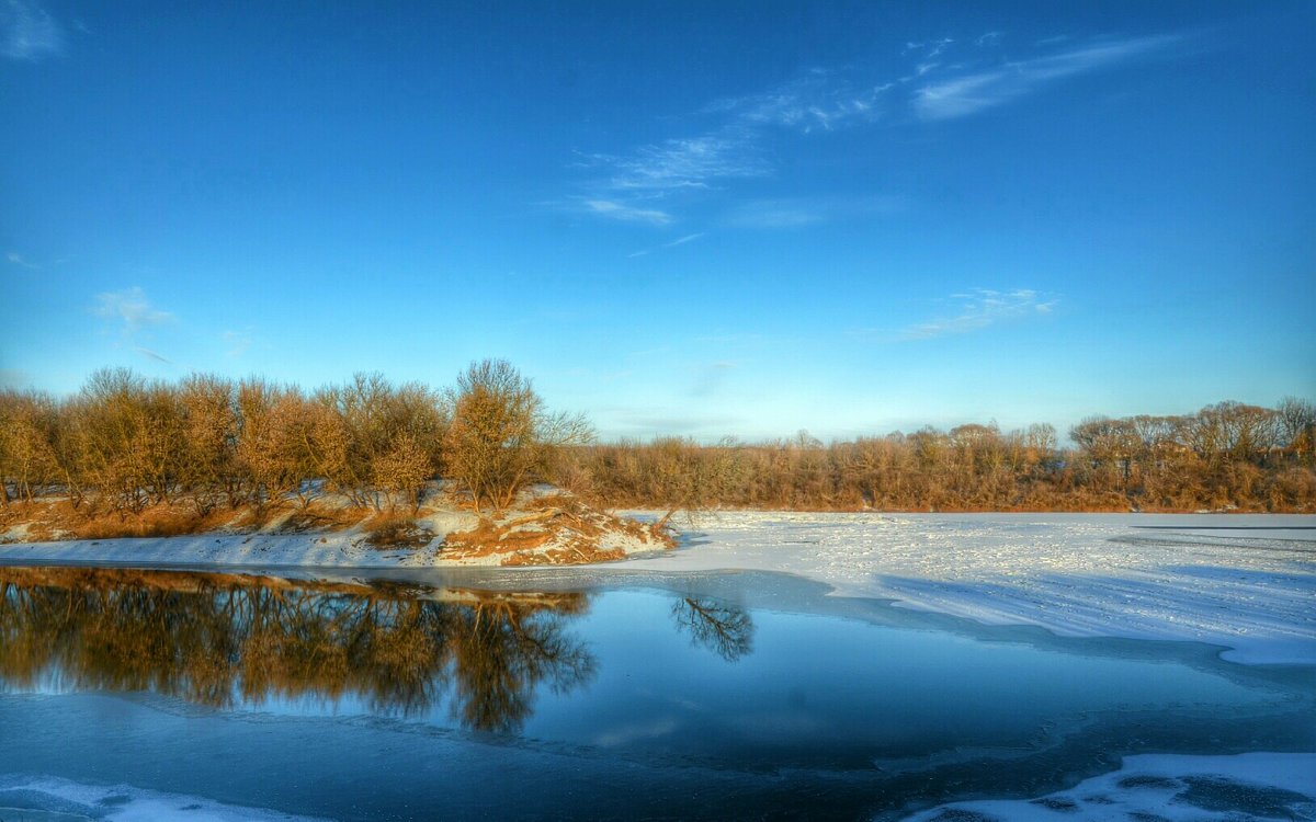
{"label": "bluish snow-covered ice patch in the bottom right corner", "polygon": [[1033,800],[953,802],[908,822],[1238,822],[1316,819],[1316,754],[1128,756],[1124,767]]}

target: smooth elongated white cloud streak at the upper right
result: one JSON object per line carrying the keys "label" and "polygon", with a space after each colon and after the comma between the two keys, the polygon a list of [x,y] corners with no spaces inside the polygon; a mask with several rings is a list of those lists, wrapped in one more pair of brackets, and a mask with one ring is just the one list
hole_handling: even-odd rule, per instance
{"label": "smooth elongated white cloud streak at the upper right", "polygon": [[950,120],[975,114],[1057,80],[1162,51],[1178,39],[1174,36],[1162,36],[1094,43],[937,80],[915,92],[913,109],[921,120]]}

